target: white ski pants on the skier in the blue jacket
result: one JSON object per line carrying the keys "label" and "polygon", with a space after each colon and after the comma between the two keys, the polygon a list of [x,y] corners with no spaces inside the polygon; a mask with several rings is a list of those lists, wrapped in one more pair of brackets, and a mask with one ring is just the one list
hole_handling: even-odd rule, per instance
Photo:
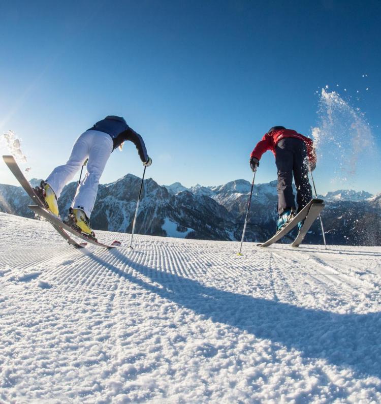
{"label": "white ski pants on the skier in the blue jacket", "polygon": [[57,198],[88,158],[87,172],[74,197],[72,208],[82,209],[90,217],[97,197],[99,179],[113,149],[111,136],[100,131],[86,131],[74,143],[66,164],[56,167],[46,179]]}

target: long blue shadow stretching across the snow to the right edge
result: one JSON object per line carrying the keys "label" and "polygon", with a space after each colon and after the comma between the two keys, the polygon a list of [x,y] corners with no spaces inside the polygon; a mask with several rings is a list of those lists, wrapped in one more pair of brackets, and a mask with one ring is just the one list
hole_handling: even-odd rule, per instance
{"label": "long blue shadow stretching across the snow to the right edge", "polygon": [[341,315],[223,291],[135,263],[117,250],[111,252],[152,283],[162,286],[157,287],[92,253],[85,254],[118,276],[213,322],[294,348],[305,358],[322,358],[329,364],[351,366],[359,374],[381,378],[381,313]]}

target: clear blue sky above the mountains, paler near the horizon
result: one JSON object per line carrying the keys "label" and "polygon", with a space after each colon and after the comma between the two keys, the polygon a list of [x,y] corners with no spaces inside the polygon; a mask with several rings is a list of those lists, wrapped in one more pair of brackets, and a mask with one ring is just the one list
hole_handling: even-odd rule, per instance
{"label": "clear blue sky above the mountains, paler near the horizon", "polygon": [[[380,146],[379,1],[14,1],[0,15],[0,131],[22,139],[31,177],[115,114],[145,139],[158,183],[251,180],[253,146],[274,125],[310,134],[326,84],[360,90],[353,106]],[[16,183],[0,170],[0,183]],[[142,171],[126,144],[101,182]],[[257,179],[275,178],[268,152]],[[337,188],[324,167],[315,180]],[[381,191],[374,171],[353,185]]]}

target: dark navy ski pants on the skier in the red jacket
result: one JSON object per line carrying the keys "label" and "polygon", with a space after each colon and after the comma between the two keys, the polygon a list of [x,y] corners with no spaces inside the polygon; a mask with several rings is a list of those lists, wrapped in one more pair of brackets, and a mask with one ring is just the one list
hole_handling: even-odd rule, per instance
{"label": "dark navy ski pants on the skier in the red jacket", "polygon": [[306,164],[306,145],[303,140],[284,138],[277,143],[275,152],[278,169],[278,213],[282,214],[286,209],[296,210],[292,188],[293,174],[297,192],[296,201],[300,211],[312,199]]}

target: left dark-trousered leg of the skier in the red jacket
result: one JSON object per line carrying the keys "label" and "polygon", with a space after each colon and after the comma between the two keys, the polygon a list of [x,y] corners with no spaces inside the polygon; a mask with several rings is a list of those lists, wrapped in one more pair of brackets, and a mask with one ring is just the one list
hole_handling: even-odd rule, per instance
{"label": "left dark-trousered leg of the skier in the red jacket", "polygon": [[295,198],[293,194],[293,165],[294,154],[289,149],[290,138],[282,139],[276,145],[276,168],[278,169],[278,213],[284,210],[295,210]]}

